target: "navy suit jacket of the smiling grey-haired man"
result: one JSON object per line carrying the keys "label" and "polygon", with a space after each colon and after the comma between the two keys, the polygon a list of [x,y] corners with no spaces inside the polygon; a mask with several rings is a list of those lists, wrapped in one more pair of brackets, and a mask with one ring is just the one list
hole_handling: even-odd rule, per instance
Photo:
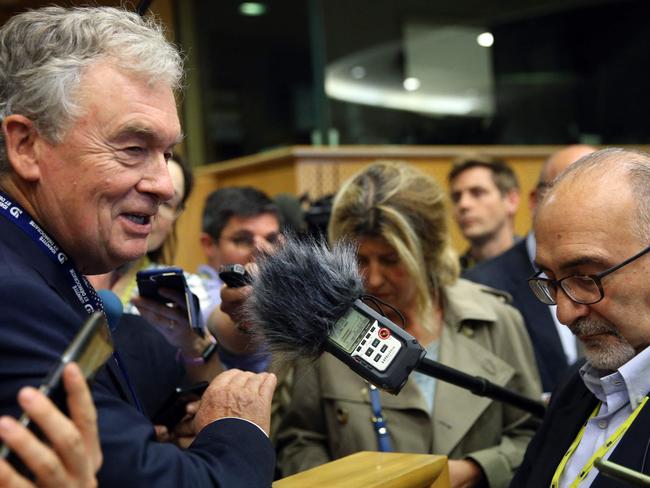
{"label": "navy suit jacket of the smiling grey-haired man", "polygon": [[[87,317],[61,268],[0,216],[0,414],[19,415],[18,390],[41,383]],[[139,368],[130,372],[133,382],[155,381],[168,369],[155,361],[143,358]],[[249,422],[213,422],[187,450],[159,443],[152,423],[134,408],[124,377],[112,359],[95,381],[93,399],[104,455],[98,474],[101,487],[271,484],[273,447]]]}

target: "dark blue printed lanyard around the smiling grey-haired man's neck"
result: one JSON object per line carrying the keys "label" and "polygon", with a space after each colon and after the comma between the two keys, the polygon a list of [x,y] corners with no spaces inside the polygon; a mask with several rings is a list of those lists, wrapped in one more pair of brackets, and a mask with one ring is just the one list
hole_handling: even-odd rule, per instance
{"label": "dark blue printed lanyard around the smiling grey-haired man's neck", "polygon": [[[24,208],[2,191],[0,191],[0,215],[22,230],[41,249],[41,251],[50,258],[50,261],[59,266],[61,271],[68,277],[68,282],[70,283],[70,287],[72,288],[75,297],[77,297],[77,300],[79,300],[79,303],[88,315],[95,311],[104,312],[102,301],[97,296],[95,288],[93,288],[86,277],[76,269],[68,255],[61,250],[61,247],[54,241],[54,239],[52,239],[47,232],[38,225],[38,223]],[[117,351],[113,352],[113,359],[122,373],[122,376],[124,376],[131,396],[133,397],[135,407],[142,413],[142,405],[135,394],[135,388],[133,388],[133,385],[129,380],[129,375],[126,372],[126,368],[120,360]]]}

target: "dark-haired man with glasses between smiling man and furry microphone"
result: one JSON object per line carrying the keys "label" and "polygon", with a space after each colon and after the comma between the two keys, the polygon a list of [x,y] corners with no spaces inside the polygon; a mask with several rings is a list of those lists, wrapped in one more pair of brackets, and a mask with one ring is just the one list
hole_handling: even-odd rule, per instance
{"label": "dark-haired man with glasses between smiling man and furry microphone", "polygon": [[280,216],[275,203],[262,191],[246,186],[222,188],[211,193],[203,209],[201,247],[208,263],[199,274],[210,293],[212,307],[205,311],[208,327],[217,339],[221,362],[227,369],[266,371],[270,356],[258,351],[251,336],[223,313],[219,268],[246,264],[257,252],[268,251],[281,237]]}

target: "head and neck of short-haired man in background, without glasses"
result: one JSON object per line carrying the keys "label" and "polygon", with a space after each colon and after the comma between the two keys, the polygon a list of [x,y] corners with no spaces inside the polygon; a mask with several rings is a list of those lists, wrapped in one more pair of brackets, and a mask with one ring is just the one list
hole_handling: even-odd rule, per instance
{"label": "head and neck of short-haired man in background, without glasses", "polygon": [[505,162],[463,159],[449,173],[454,220],[470,247],[461,268],[471,268],[510,249],[515,243],[514,217],[519,208],[519,182]]}

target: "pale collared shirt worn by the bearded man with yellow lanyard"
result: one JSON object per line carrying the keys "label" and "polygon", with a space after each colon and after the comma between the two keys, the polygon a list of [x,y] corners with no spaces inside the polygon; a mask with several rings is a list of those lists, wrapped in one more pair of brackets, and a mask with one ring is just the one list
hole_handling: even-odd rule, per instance
{"label": "pale collared shirt worn by the bearded man with yellow lanyard", "polygon": [[[602,404],[598,414],[587,422],[580,444],[564,467],[560,488],[568,487],[575,480],[580,469],[594,452],[625,422],[650,392],[648,368],[650,368],[650,347],[634,356],[618,371],[602,378],[600,377],[602,373],[589,363],[580,369],[585,386]],[[618,442],[603,455],[603,458],[607,459],[616,449],[617,444]],[[579,486],[590,486],[597,474],[598,469],[592,468]]]}

